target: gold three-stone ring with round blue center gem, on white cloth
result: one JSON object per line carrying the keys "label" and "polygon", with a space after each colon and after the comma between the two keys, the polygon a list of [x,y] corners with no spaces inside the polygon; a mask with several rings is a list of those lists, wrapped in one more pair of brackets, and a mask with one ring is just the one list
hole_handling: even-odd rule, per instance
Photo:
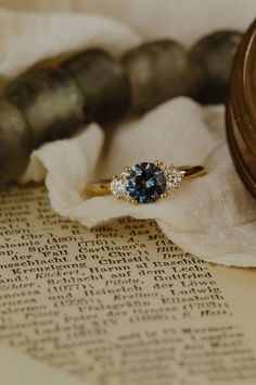
{"label": "gold three-stone ring with round blue center gem, on white cloth", "polygon": [[88,197],[113,194],[131,203],[150,203],[166,198],[171,189],[180,187],[182,179],[202,176],[206,173],[202,165],[166,165],[164,162],[141,162],[124,166],[119,175],[86,187]]}

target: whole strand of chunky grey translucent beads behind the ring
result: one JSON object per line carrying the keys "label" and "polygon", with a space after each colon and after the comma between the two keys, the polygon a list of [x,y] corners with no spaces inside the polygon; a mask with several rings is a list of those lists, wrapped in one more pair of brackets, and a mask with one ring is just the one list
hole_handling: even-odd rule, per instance
{"label": "whole strand of chunky grey translucent beads behind the ring", "polygon": [[107,127],[177,96],[223,103],[241,37],[216,32],[190,49],[171,39],[145,42],[119,60],[90,48],[59,66],[28,70],[0,100],[0,185],[22,175],[35,148],[86,123]]}

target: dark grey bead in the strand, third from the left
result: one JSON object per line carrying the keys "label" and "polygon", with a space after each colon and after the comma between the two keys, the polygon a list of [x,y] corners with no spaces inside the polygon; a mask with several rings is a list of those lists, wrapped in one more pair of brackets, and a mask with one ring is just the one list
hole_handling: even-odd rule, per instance
{"label": "dark grey bead in the strand, third from the left", "polygon": [[130,107],[128,79],[121,65],[100,49],[88,49],[62,64],[84,96],[84,111],[91,121],[110,123]]}

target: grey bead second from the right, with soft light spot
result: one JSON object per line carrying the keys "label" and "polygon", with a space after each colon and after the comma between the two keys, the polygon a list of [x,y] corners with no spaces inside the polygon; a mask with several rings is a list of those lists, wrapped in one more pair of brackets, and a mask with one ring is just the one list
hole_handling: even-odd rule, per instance
{"label": "grey bead second from the right, with soft light spot", "polygon": [[123,63],[131,85],[132,110],[137,113],[191,92],[187,51],[176,41],[143,44],[127,52]]}

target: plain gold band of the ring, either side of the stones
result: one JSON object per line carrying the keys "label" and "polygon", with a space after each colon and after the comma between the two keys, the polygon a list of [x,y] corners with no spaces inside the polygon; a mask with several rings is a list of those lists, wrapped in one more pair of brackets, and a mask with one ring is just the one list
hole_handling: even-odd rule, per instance
{"label": "plain gold band of the ring, either side of the stones", "polygon": [[[197,176],[202,176],[206,173],[205,167],[202,165],[181,165],[176,167],[179,171],[183,171],[183,179],[189,179]],[[106,181],[101,181],[98,183],[93,183],[91,185],[86,186],[86,195],[91,198],[91,197],[103,197],[106,195],[111,194],[111,181],[112,179],[106,179]]]}

